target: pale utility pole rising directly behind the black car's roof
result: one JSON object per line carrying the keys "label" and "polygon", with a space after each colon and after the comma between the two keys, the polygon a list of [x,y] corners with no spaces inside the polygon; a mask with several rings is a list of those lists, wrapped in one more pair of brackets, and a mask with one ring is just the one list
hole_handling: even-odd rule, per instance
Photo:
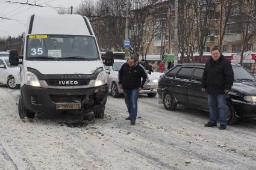
{"label": "pale utility pole rising directly behind the black car's roof", "polygon": [[178,0],[175,0],[175,23],[174,23],[174,65],[178,64]]}

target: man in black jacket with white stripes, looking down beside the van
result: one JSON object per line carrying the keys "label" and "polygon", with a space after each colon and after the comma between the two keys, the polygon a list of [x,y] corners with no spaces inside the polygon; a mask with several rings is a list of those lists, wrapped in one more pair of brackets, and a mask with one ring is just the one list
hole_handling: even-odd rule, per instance
{"label": "man in black jacket with white stripes, looking down beside the van", "polygon": [[119,70],[119,88],[123,89],[125,104],[130,114],[125,120],[130,120],[131,125],[135,125],[137,118],[139,91],[147,82],[148,74],[145,68],[139,64],[135,56],[131,56]]}

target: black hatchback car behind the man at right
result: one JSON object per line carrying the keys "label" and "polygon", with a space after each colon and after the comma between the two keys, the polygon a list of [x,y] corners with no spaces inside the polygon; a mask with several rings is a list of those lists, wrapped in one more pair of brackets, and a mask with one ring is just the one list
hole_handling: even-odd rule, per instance
{"label": "black hatchback car behind the man at right", "polygon": [[[177,105],[208,110],[207,94],[201,91],[204,64],[178,64],[160,77],[158,96],[164,108],[173,111]],[[227,95],[228,124],[238,117],[256,117],[256,79],[240,65],[232,64],[234,85]]]}

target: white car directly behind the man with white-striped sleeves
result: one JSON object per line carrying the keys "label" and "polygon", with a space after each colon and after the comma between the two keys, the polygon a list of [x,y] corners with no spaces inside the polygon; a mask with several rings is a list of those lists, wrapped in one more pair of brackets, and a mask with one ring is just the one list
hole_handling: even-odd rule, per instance
{"label": "white car directly behind the man with white-striped sleeves", "polygon": [[[123,94],[123,90],[118,87],[118,71],[125,62],[126,60],[123,59],[114,59],[113,66],[105,66],[108,88],[113,97],[120,97],[120,94]],[[140,94],[148,94],[149,97],[155,97],[157,95],[158,80],[150,74],[148,74],[148,77],[148,83],[146,87],[140,91]]]}

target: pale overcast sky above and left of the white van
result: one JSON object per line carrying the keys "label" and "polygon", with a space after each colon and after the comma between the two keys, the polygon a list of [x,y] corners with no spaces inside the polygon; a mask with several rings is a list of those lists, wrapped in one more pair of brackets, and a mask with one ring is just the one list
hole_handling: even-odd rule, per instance
{"label": "pale overcast sky above and left of the white van", "polygon": [[[83,0],[36,0],[37,5],[50,5],[51,7],[34,7],[31,5],[10,4],[7,1],[27,2],[27,0],[0,0],[0,17],[15,19],[0,19],[0,37],[7,37],[8,35],[21,35],[24,31],[24,25],[22,23],[25,24],[28,17],[30,17],[32,14],[57,14],[57,11],[51,7],[70,8],[72,5],[73,8],[77,8]],[[28,3],[30,4],[34,4],[34,2],[34,0],[28,0]]]}

